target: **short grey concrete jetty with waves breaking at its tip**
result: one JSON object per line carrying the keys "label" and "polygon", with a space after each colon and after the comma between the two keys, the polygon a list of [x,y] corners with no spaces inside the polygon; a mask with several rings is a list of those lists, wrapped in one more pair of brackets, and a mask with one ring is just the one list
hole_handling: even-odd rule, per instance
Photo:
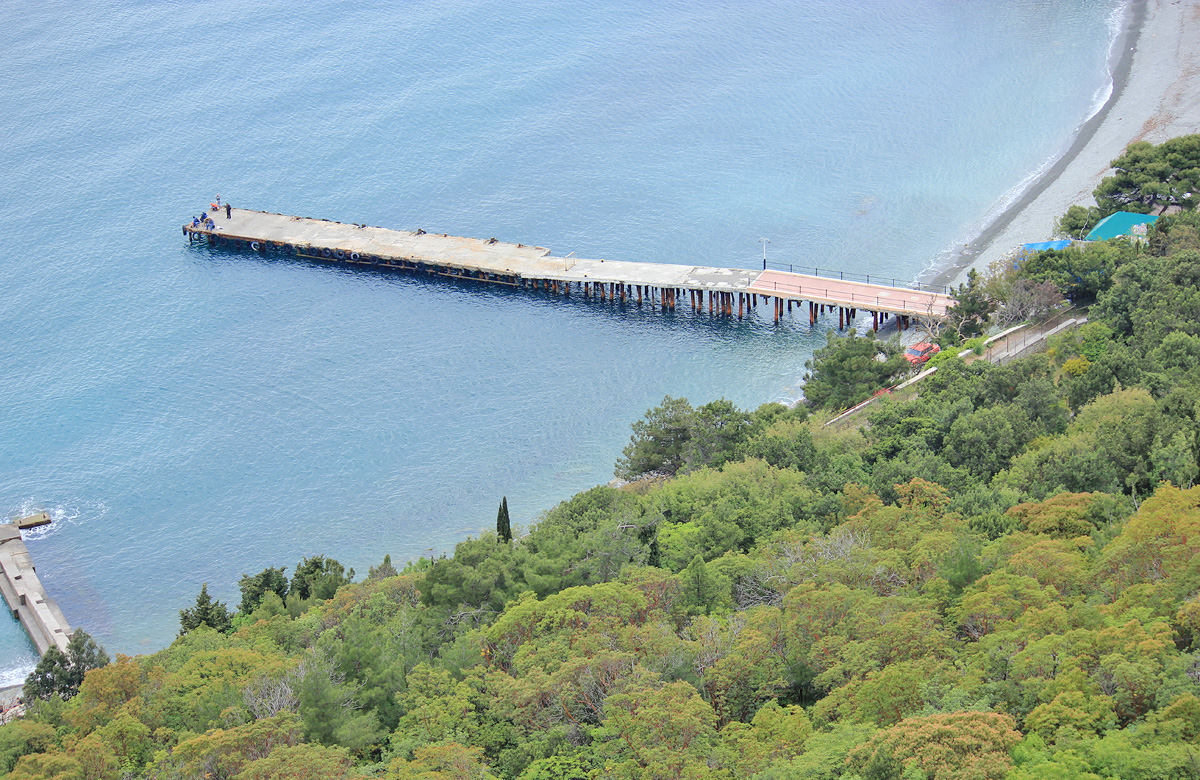
{"label": "short grey concrete jetty with waves breaking at its tip", "polygon": [[44,655],[50,647],[65,652],[71,638],[71,626],[37,578],[29,548],[20,536],[22,529],[49,522],[49,515],[40,512],[12,523],[0,523],[0,593],[13,617],[25,626],[38,655]]}

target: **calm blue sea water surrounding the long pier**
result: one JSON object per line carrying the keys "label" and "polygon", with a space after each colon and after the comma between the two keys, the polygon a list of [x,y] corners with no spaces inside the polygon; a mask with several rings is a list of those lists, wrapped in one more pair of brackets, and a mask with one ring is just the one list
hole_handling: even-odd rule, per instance
{"label": "calm blue sea water surrounding the long pier", "polygon": [[[1066,148],[1118,4],[244,5],[0,10],[0,510],[55,515],[38,572],[110,652],[202,582],[528,523],[664,395],[794,398],[823,340],[188,247],[217,192],[911,278]],[[0,625],[0,682],[32,661]]]}

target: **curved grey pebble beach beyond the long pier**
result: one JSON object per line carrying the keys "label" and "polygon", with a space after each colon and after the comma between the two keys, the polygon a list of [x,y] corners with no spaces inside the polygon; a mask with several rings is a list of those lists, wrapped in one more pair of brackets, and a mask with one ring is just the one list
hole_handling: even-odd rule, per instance
{"label": "curved grey pebble beach beyond the long pier", "polygon": [[1200,24],[1200,5],[1132,0],[1123,16],[1109,98],[1067,151],[928,281],[959,284],[1021,244],[1051,239],[1069,206],[1094,204],[1092,191],[1130,143],[1200,132],[1200,41],[1186,32]]}

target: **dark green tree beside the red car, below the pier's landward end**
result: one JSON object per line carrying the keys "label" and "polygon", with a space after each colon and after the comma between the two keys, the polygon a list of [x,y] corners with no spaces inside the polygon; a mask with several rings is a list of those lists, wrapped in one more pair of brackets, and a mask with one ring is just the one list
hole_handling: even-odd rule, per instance
{"label": "dark green tree beside the red car, below the pier's landward end", "polygon": [[853,331],[835,336],[804,364],[804,398],[818,409],[838,410],[869,398],[893,384],[908,364],[895,343],[860,338]]}

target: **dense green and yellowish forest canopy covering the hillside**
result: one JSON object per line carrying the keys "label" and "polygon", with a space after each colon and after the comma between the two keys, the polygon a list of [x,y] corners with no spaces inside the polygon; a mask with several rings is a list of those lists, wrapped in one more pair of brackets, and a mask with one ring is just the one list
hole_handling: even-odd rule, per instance
{"label": "dense green and yellowish forest canopy covering the hillside", "polygon": [[505,499],[498,533],[400,571],[272,565],[233,612],[204,587],[151,655],[80,636],[0,727],[0,768],[1200,776],[1198,228],[973,280],[980,320],[1008,306],[989,290],[1050,284],[1090,322],[1008,365],[947,350],[856,424],[823,424],[850,401],[834,378],[900,366],[850,336],[815,358],[811,408],[666,398],[628,484],[530,528]]}

